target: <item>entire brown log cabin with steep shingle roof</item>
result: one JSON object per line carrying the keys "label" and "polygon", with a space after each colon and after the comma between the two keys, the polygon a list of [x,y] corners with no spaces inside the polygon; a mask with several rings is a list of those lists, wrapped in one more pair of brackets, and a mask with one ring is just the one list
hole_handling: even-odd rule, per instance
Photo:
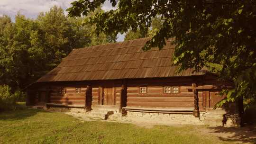
{"label": "entire brown log cabin with steep shingle roof", "polygon": [[172,40],[145,52],[148,40],[73,49],[27,89],[27,105],[200,117],[223,99],[219,91],[232,83],[218,81],[206,69],[176,73]]}

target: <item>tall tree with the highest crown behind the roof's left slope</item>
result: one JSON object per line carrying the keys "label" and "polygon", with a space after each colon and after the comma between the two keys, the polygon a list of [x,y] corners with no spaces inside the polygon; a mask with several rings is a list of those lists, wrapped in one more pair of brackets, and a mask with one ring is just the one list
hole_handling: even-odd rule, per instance
{"label": "tall tree with the highest crown behind the roof's left slope", "polygon": [[44,32],[43,40],[49,63],[51,67],[55,67],[73,49],[69,43],[74,34],[71,23],[65,17],[63,9],[56,5],[45,14],[40,13],[37,22]]}

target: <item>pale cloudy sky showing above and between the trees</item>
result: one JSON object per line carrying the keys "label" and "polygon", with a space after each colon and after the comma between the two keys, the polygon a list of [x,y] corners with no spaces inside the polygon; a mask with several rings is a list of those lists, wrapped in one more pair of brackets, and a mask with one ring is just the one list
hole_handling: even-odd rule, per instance
{"label": "pale cloudy sky showing above and between the trees", "polygon": [[[74,0],[0,0],[0,16],[8,15],[14,21],[15,15],[19,12],[27,18],[37,18],[38,13],[49,11],[53,5],[67,9]],[[103,10],[115,9],[107,0]],[[65,14],[67,12],[65,11]],[[123,41],[124,35],[118,35],[118,41]]]}

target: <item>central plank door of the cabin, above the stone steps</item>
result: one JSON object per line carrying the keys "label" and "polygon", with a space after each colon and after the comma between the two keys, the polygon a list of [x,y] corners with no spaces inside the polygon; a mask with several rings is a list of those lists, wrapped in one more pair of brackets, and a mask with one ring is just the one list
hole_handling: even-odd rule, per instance
{"label": "central plank door of the cabin, above the stone steps", "polygon": [[103,105],[114,105],[114,91],[111,87],[104,87],[103,88],[103,95],[102,95]]}

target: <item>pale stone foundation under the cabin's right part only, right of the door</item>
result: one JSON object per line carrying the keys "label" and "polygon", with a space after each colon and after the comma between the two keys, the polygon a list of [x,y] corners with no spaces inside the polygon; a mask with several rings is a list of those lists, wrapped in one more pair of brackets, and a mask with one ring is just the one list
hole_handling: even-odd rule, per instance
{"label": "pale stone foundation under the cabin's right part only, right of the door", "polygon": [[229,114],[222,109],[200,112],[200,117],[194,117],[192,114],[164,114],[132,111],[127,111],[124,117],[133,120],[138,119],[181,125],[239,126],[240,122],[238,114]]}

